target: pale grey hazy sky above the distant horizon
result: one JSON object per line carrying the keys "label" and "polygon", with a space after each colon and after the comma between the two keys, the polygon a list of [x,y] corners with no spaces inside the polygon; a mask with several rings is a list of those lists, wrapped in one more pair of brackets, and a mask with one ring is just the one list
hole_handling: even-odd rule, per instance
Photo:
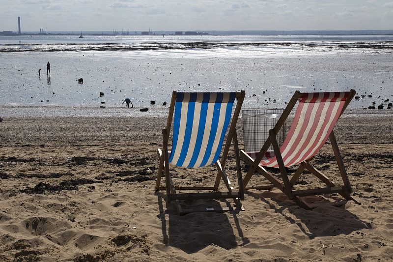
{"label": "pale grey hazy sky above the distant horizon", "polygon": [[0,0],[0,31],[390,30],[393,0]]}

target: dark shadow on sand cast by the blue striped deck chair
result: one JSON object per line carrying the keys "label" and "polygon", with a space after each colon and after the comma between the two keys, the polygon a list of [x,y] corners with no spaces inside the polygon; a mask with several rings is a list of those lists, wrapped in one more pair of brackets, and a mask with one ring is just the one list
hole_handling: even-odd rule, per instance
{"label": "dark shadow on sand cast by the blue striped deck chair", "polygon": [[[157,217],[161,219],[163,243],[166,245],[193,254],[211,245],[230,250],[250,242],[240,228],[239,211],[232,211],[230,216],[227,212],[196,212],[179,216],[174,204],[166,204],[165,194],[156,192],[156,196],[160,209]],[[217,201],[215,204],[220,203]],[[233,227],[237,229],[238,236]]]}

